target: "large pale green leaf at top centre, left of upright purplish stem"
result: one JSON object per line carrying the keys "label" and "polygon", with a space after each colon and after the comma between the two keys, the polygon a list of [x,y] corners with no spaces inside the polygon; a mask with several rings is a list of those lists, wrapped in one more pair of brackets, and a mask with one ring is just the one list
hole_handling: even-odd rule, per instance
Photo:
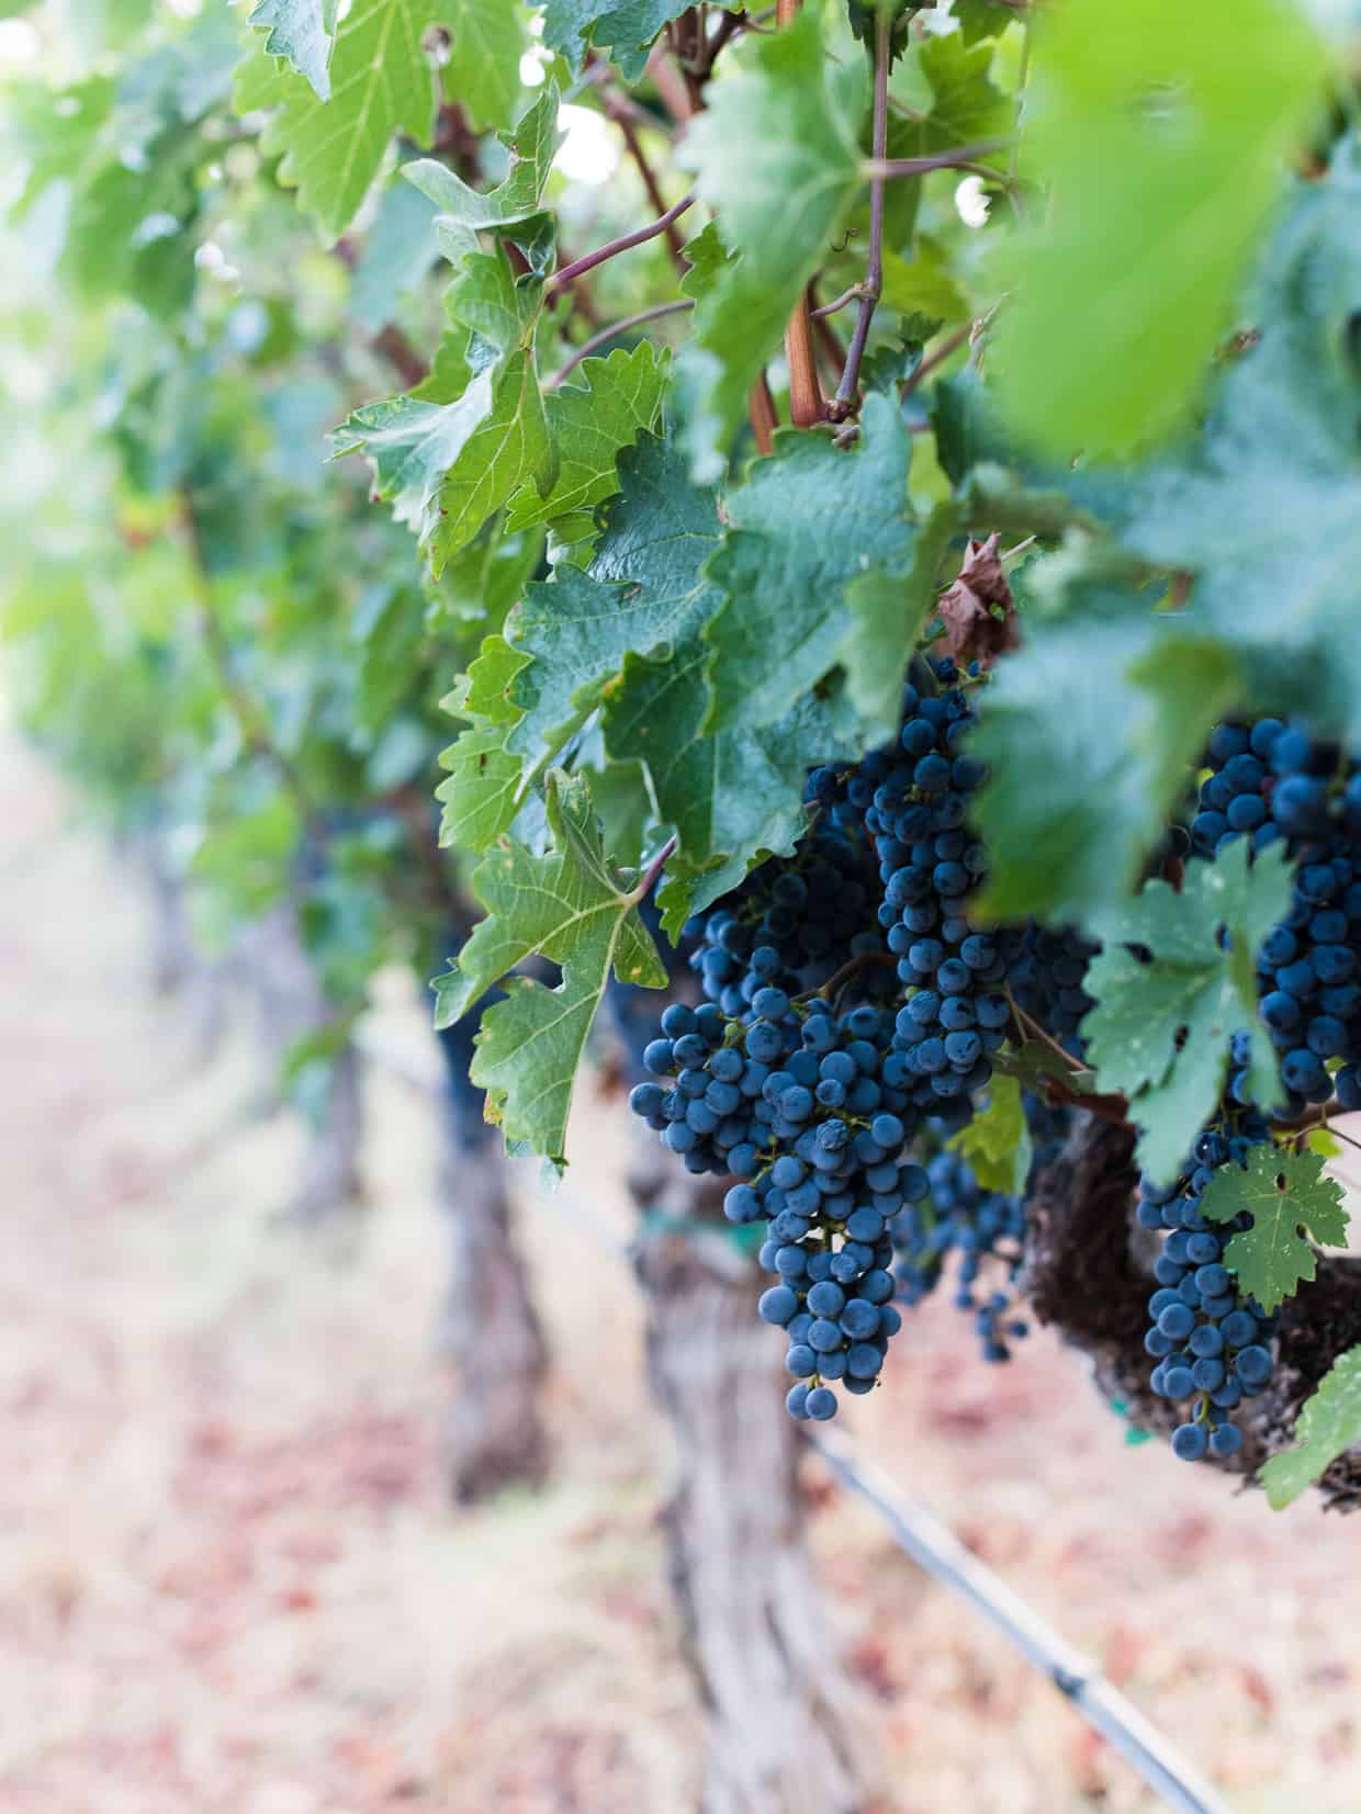
{"label": "large pale green leaf at top centre, left of upright purplish stem", "polygon": [[720,444],[855,200],[864,102],[862,58],[831,63],[809,7],[759,38],[742,73],[715,83],[690,122],[682,158],[740,254],[700,301],[682,361],[697,479],[722,470]]}

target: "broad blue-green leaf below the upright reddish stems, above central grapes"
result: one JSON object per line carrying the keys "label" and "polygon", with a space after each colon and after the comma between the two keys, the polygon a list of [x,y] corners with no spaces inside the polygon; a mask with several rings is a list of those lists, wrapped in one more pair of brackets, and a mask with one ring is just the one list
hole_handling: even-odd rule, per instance
{"label": "broad blue-green leaf below the upright reddish stems, above central grapes", "polygon": [[911,435],[887,397],[866,397],[855,452],[780,434],[724,499],[731,528],[710,562],[726,600],[710,626],[710,729],[769,724],[817,686],[851,639],[862,675],[864,617],[846,599],[871,570],[911,571]]}

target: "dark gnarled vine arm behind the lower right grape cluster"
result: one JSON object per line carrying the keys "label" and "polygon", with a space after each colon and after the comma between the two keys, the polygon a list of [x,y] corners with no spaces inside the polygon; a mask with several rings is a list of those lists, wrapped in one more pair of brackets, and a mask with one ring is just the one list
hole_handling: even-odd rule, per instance
{"label": "dark gnarled vine arm behind the lower right grape cluster", "polygon": [[[1023,1288],[1042,1322],[1089,1355],[1096,1388],[1120,1399],[1131,1419],[1161,1437],[1183,1411],[1149,1386],[1143,1351],[1147,1301],[1154,1290],[1152,1237],[1132,1221],[1134,1136],[1092,1116],[1078,1116],[1067,1146],[1040,1174],[1031,1195]],[[1317,1279],[1281,1308],[1278,1362],[1267,1391],[1248,1399],[1234,1420],[1243,1448],[1209,1466],[1256,1486],[1261,1464],[1294,1442],[1299,1408],[1337,1353],[1361,1342],[1361,1261],[1323,1255]],[[1207,1466],[1199,1462],[1198,1466]],[[1327,1507],[1361,1504],[1361,1448],[1339,1455],[1317,1482]]]}

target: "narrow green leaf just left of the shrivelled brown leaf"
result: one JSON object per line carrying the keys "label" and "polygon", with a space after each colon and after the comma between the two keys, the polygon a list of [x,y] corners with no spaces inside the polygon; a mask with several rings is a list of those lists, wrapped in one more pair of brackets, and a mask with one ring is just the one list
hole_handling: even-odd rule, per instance
{"label": "narrow green leaf just left of the shrivelled brown leaf", "polygon": [[922,524],[906,575],[880,568],[846,588],[851,613],[840,649],[846,689],[871,744],[898,733],[902,675],[935,610],[938,568],[956,530],[955,504],[936,504]]}

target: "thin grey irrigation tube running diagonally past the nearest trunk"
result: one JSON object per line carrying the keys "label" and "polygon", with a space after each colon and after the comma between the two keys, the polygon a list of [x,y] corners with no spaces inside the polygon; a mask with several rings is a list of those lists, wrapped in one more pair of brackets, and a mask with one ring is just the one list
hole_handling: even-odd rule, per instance
{"label": "thin grey irrigation tube running diagonally past the nearest trunk", "polygon": [[[425,1079],[394,1063],[392,1056],[376,1045],[361,1043],[361,1050],[367,1058],[396,1070],[412,1087],[428,1088]],[[602,1237],[599,1228],[593,1234],[624,1261],[633,1277],[628,1250]],[[927,1506],[900,1493],[873,1462],[858,1460],[844,1437],[809,1431],[808,1446],[840,1486],[862,1498],[884,1520],[904,1555],[942,1587],[967,1600],[1033,1669],[1049,1676],[1087,1725],[1140,1772],[1167,1807],[1178,1814],[1232,1814],[1219,1792],[1145,1720],[1098,1665],[1033,1613],[1020,1595],[971,1555]]]}

